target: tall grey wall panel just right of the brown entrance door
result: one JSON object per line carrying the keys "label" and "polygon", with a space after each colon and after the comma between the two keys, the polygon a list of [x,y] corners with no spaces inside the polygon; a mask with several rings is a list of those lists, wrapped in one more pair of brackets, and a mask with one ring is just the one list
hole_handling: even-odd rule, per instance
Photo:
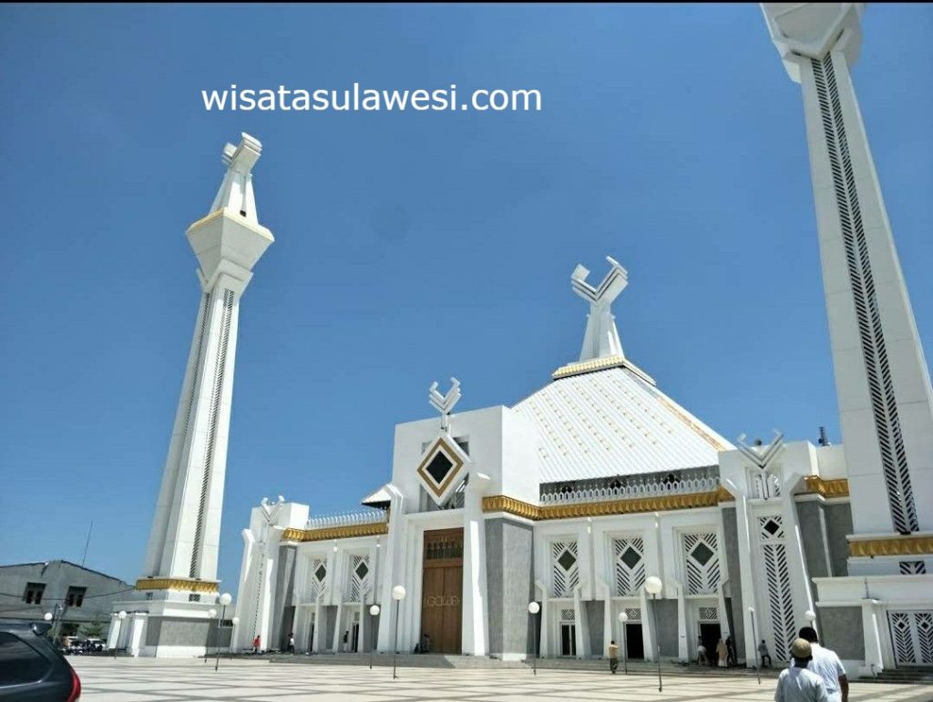
{"label": "tall grey wall panel just right of the brown entrance door", "polygon": [[534,623],[532,527],[507,518],[486,520],[486,593],[490,654],[531,652]]}

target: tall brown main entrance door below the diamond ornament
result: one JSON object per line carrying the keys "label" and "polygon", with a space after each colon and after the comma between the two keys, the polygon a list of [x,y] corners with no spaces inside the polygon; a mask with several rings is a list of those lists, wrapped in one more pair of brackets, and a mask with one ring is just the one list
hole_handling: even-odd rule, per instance
{"label": "tall brown main entrance door below the diamond ornament", "polygon": [[432,654],[459,654],[463,623],[464,530],[425,531],[421,639]]}

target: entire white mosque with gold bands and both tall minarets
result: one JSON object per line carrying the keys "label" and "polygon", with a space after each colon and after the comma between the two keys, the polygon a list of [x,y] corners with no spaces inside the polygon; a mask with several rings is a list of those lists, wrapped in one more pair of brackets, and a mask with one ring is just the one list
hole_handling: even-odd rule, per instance
{"label": "entire white mosque with gold bands and both tall minarets", "polygon": [[[354,513],[253,509],[232,648],[294,632],[299,653],[585,658],[616,640],[686,661],[731,636],[754,666],[759,640],[780,657],[813,623],[851,675],[933,665],[933,391],[849,75],[864,5],[762,8],[801,84],[842,445],[717,434],[625,355],[626,270],[578,266],[580,356],[543,388],[456,413],[459,380],[434,383],[433,414],[397,425],[391,475]],[[216,617],[237,310],[272,243],[260,153],[228,145],[188,228],[202,306],[122,634],[137,654],[202,652]]]}

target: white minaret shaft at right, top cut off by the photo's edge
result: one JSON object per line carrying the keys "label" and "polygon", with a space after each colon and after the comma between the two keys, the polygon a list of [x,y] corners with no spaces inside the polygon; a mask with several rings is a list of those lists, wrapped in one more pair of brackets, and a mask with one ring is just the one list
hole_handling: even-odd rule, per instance
{"label": "white minaret shaft at right, top cut off by the photo's edge", "polygon": [[762,8],[803,93],[855,534],[930,531],[933,392],[849,74],[864,4]]}

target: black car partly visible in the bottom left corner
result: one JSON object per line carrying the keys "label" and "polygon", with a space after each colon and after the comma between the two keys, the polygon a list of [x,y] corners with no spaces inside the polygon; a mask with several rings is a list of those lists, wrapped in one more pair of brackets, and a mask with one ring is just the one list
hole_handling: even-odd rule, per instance
{"label": "black car partly visible in the bottom left corner", "polygon": [[47,622],[0,621],[0,700],[75,702],[81,681],[53,646]]}

